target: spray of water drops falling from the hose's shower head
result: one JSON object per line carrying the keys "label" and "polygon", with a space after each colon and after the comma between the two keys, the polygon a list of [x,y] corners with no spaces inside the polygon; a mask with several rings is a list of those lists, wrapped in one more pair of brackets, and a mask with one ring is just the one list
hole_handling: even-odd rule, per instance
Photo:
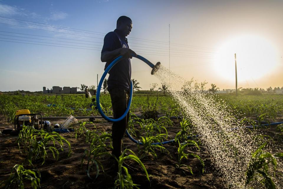
{"label": "spray of water drops falling from the hose's shower head", "polygon": [[154,75],[167,85],[182,115],[192,122],[219,176],[226,180],[226,187],[245,188],[251,153],[259,146],[254,134],[247,129],[231,131],[230,128],[242,126],[232,110],[224,101],[215,100],[212,94],[195,90],[193,81],[186,81],[164,66]]}

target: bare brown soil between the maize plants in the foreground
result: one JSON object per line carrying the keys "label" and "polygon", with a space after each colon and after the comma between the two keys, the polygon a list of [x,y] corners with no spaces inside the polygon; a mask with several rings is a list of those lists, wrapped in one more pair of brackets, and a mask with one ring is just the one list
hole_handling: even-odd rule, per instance
{"label": "bare brown soil between the maize plants in the foreground", "polygon": [[[54,126],[56,123],[61,123],[63,120],[51,120]],[[88,120],[79,120],[88,121]],[[103,119],[95,120],[96,130],[111,132],[111,123]],[[73,127],[78,127],[79,124]],[[14,126],[7,123],[4,117],[0,120],[0,130],[5,128],[13,128]],[[91,124],[86,125],[88,129],[94,129]],[[168,129],[169,135],[174,137],[175,133],[179,131],[179,125]],[[34,164],[35,169],[41,173],[42,188],[113,188],[114,177],[113,160],[106,157],[101,162],[104,167],[104,172],[101,172],[97,179],[90,179],[86,174],[86,163],[81,167],[81,159],[84,149],[89,148],[89,144],[85,143],[85,138],[81,137],[75,139],[74,132],[61,134],[68,139],[71,144],[72,154],[67,157],[67,149],[60,153],[60,158],[56,162],[52,156],[46,160],[45,164]],[[5,180],[15,164],[24,164],[26,169],[31,169],[25,157],[19,152],[18,146],[15,143],[15,136],[6,135],[0,136],[0,177],[1,181]],[[138,153],[137,145],[129,138],[123,139],[123,149],[131,149],[136,154]],[[202,173],[202,166],[197,159],[189,159],[184,163],[192,167],[194,175],[191,175],[187,168],[177,169],[177,148],[174,144],[164,145],[170,151],[172,159],[167,154],[158,152],[158,159],[143,159],[147,171],[149,173],[150,183],[146,179],[141,167],[134,161],[126,161],[128,165],[134,167],[135,170],[129,170],[134,183],[140,184],[140,188],[222,188],[223,180],[218,178],[215,170],[211,166],[209,154],[204,150],[200,152],[195,151],[205,162],[205,172]],[[175,160],[174,160],[175,159]],[[91,177],[95,178],[96,170],[91,172]],[[28,185],[26,185],[28,186]]]}

